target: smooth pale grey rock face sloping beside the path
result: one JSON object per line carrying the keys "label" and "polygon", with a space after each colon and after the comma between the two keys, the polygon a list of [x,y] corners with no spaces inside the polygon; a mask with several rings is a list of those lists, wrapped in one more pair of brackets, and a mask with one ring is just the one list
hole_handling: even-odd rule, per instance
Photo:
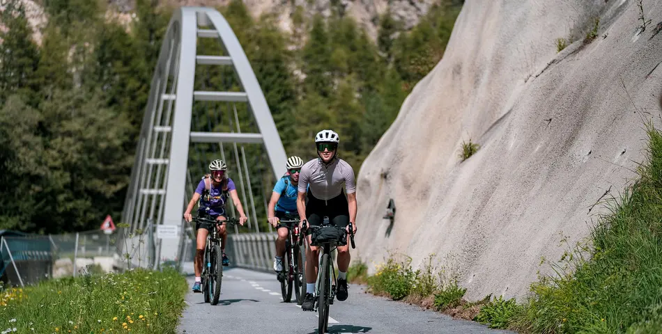
{"label": "smooth pale grey rock face sloping beside the path", "polygon": [[[662,3],[643,8],[652,24],[638,35],[636,1],[466,1],[444,58],[358,173],[354,260],[374,273],[389,250],[416,266],[436,253],[473,300],[521,299],[551,273],[541,257],[589,237],[606,212],[596,202],[636,177],[642,120],[660,120]],[[557,38],[576,42],[557,53]],[[480,148],[461,161],[469,139]]]}

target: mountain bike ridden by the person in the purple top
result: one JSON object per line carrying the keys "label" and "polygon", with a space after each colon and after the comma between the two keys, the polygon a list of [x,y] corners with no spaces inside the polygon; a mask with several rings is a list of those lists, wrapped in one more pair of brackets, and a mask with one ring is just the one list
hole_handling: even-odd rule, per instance
{"label": "mountain bike ridden by the person in the purple top", "polygon": [[217,221],[216,219],[206,218],[205,216],[197,216],[193,221],[199,223],[209,224],[213,228],[207,234],[207,244],[205,246],[205,257],[202,266],[202,293],[205,298],[205,303],[217,305],[218,299],[221,296],[221,283],[223,281],[223,253],[222,253],[222,239],[218,233],[218,226],[226,223],[226,228],[231,225],[239,223],[237,218],[228,218],[226,221]]}

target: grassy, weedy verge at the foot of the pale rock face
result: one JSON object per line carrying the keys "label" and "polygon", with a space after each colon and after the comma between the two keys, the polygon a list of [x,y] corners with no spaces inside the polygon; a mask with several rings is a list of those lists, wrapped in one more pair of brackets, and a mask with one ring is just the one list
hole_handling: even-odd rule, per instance
{"label": "grassy, weedy verge at the foot of the pale rock face", "polygon": [[650,124],[647,134],[638,180],[523,303],[468,303],[452,276],[432,277],[431,262],[414,271],[393,255],[367,278],[369,292],[520,333],[662,333],[662,134]]}

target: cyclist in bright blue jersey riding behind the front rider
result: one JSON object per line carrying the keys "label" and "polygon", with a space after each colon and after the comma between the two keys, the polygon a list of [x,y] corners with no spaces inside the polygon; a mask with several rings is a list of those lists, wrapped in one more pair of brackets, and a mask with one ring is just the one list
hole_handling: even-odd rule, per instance
{"label": "cyclist in bright blue jersey riding behind the front rider", "polygon": [[288,175],[281,177],[276,182],[271,200],[269,200],[269,209],[267,217],[269,223],[278,231],[276,239],[276,258],[274,259],[274,270],[283,270],[283,255],[285,254],[285,240],[288,234],[288,225],[280,223],[280,219],[285,221],[298,218],[297,212],[297,186],[299,184],[299,172],[303,166],[303,160],[300,157],[289,157],[285,165]]}

